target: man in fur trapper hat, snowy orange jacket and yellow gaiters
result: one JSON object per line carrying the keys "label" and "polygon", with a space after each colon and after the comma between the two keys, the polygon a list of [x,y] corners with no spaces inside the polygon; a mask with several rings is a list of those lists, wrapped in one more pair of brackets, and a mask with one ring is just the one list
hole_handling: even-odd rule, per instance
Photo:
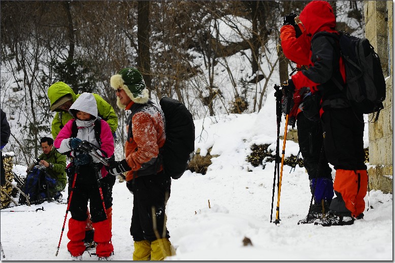
{"label": "man in fur trapper hat, snowy orange jacket and yellow gaiters", "polygon": [[118,107],[130,110],[125,159],[112,165],[109,172],[127,172],[126,186],[134,195],[130,226],[135,246],[133,259],[162,260],[172,255],[164,221],[171,177],[163,173],[159,155],[166,140],[164,115],[149,99],[143,76],[136,68],[122,69],[111,77],[110,84],[116,91]]}

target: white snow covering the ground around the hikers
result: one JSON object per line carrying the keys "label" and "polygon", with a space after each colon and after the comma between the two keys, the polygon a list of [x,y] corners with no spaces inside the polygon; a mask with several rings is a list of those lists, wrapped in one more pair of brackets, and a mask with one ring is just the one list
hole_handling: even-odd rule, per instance
{"label": "white snow covering the ground around the hikers", "polygon": [[[220,156],[212,159],[206,175],[186,171],[180,179],[173,180],[167,226],[177,254],[167,260],[392,260],[392,195],[381,191],[370,191],[365,199],[364,219],[352,226],[298,226],[309,209],[308,176],[304,168],[297,166],[289,173],[290,167],[284,166],[281,221],[277,226],[270,222],[274,163],[262,169],[252,167],[245,159],[252,143],[273,143],[271,148],[275,149],[274,104],[274,96],[269,94],[258,114],[195,121],[196,149],[201,148],[205,154],[212,147],[211,154]],[[284,132],[284,121],[280,130]],[[296,155],[298,144],[287,141],[285,151],[287,156]],[[25,170],[25,166],[14,166],[17,174]],[[125,182],[117,181],[113,198],[112,259],[131,260],[134,248],[129,227],[133,195]],[[273,220],[276,204],[277,191]],[[44,211],[35,212],[42,207]],[[70,260],[67,224],[55,256],[66,207],[45,202],[1,210],[5,254],[2,260]],[[252,245],[243,246],[245,237]],[[87,252],[83,259],[97,260]]]}

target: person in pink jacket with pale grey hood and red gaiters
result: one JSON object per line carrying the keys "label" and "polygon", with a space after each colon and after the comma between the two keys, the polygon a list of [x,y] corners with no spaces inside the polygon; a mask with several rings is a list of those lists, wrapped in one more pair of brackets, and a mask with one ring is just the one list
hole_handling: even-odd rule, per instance
{"label": "person in pink jacket with pale grey hood and red gaiters", "polygon": [[[73,196],[70,202],[71,218],[69,219],[70,242],[67,248],[73,259],[82,259],[85,251],[83,239],[85,237],[86,210],[90,201],[90,214],[95,229],[93,240],[97,243],[96,255],[101,259],[109,259],[114,248],[111,243],[111,218],[106,210],[111,209],[112,196],[111,178],[103,164],[92,159],[89,154],[78,151],[81,141],[86,140],[97,146],[97,153],[105,158],[114,154],[114,140],[110,126],[97,117],[96,100],[91,93],[81,94],[69,109],[74,119],[70,120],[57,135],[54,146],[59,153],[73,158],[68,169],[69,198],[74,176],[76,177]],[[95,125],[100,125],[95,128]],[[100,138],[98,138],[100,130]],[[98,174],[96,174],[96,172]],[[100,179],[98,179],[100,178]],[[99,185],[102,189],[105,209],[101,199]]]}

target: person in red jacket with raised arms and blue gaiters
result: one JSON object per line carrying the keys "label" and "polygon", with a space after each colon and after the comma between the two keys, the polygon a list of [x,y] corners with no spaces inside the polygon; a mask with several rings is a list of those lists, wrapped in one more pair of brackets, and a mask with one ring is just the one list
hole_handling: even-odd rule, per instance
{"label": "person in red jacket with raised arms and blue gaiters", "polygon": [[[280,29],[281,47],[284,55],[297,64],[297,73],[302,74],[302,68],[312,66],[310,61],[310,40],[305,28],[298,21],[295,13],[284,16],[284,24]],[[303,87],[293,93],[293,107],[289,118],[295,118],[298,126],[299,148],[303,156],[303,164],[310,180],[310,190],[314,197],[308,215],[308,222],[322,217],[329,210],[334,197],[332,169],[328,165],[325,153],[322,151],[322,127],[320,122],[311,121],[305,117],[299,108],[302,97],[309,91]],[[288,119],[289,120],[289,119]],[[293,122],[294,125],[294,122]],[[311,220],[310,220],[311,219]]]}

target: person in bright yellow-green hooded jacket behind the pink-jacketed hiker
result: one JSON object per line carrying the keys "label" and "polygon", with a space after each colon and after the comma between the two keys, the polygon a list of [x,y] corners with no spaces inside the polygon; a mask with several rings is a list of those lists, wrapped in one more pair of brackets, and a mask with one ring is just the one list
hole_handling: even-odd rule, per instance
{"label": "person in bright yellow-green hooded jacket behind the pink-jacketed hiker", "polygon": [[[101,96],[92,93],[97,103],[97,113],[100,118],[105,120],[115,136],[118,127],[118,117],[114,108]],[[51,124],[53,139],[56,138],[63,126],[73,117],[69,114],[69,108],[76,101],[80,94],[75,94],[72,88],[64,82],[56,82],[48,88],[48,98],[51,102],[51,111],[57,111]]]}

